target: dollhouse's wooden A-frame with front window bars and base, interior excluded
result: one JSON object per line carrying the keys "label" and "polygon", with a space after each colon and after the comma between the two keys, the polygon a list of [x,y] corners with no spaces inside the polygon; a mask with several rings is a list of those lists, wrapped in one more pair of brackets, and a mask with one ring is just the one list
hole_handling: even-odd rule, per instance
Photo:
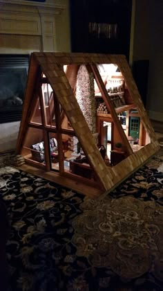
{"label": "dollhouse's wooden A-frame with front window bars and base, interior excluded", "polygon": [[[109,167],[106,166],[102,155],[100,155],[95,140],[90,132],[88,124],[81,112],[77,99],[75,98],[75,86],[77,80],[77,70],[81,64],[85,64],[88,71],[93,73],[99,91],[106,104],[108,112],[110,112],[113,122],[121,136],[121,141],[124,146],[126,159],[122,160],[119,164]],[[132,96],[133,103],[137,107],[137,111],[142,120],[142,124],[149,136],[150,142],[142,147],[137,152],[133,152],[131,145],[119,119],[117,112],[111,98],[108,96],[108,91],[104,85],[102,77],[100,76],[97,68],[98,64],[117,64],[117,67],[124,76],[126,86],[129,94]],[[64,72],[64,65],[67,65],[66,73]],[[43,78],[44,74],[44,78]],[[50,84],[53,90],[55,102],[55,116],[57,124],[52,127],[47,123],[46,118],[46,105],[44,99],[40,98],[42,80]],[[34,114],[35,107],[41,108],[41,123],[32,123],[31,116]],[[50,104],[48,104],[50,107]],[[81,147],[88,158],[88,163],[95,174],[95,182],[87,181],[82,177],[76,175],[69,175],[64,170],[63,158],[63,144],[59,136],[61,134],[68,134],[68,130],[61,127],[61,114],[59,114],[59,106],[64,110],[70,125],[73,127],[75,136],[79,140]],[[126,107],[125,107],[126,108]],[[53,112],[54,113],[54,112]],[[43,132],[44,139],[44,155],[46,164],[30,164],[30,166],[23,166],[23,170],[28,170],[37,175],[42,175],[54,180],[64,186],[71,187],[80,193],[97,197],[102,193],[111,191],[117,184],[122,182],[133,171],[142,166],[144,162],[159,150],[160,145],[155,138],[155,132],[148,119],[146,110],[140,98],[140,94],[133,80],[131,70],[128,66],[124,55],[102,55],[102,54],[88,54],[88,53],[32,53],[30,56],[30,67],[28,70],[28,81],[26,85],[26,94],[23,102],[23,112],[21,118],[21,126],[17,141],[17,154],[22,154],[22,148],[26,139],[28,128],[35,128],[37,131]],[[52,173],[50,171],[50,157],[49,157],[49,143],[48,132],[54,132],[58,139],[58,152],[59,152],[59,171]],[[28,162],[28,159],[27,159]],[[41,168],[34,170],[34,168]],[[49,176],[46,174],[49,173]],[[70,182],[71,181],[71,182]]]}

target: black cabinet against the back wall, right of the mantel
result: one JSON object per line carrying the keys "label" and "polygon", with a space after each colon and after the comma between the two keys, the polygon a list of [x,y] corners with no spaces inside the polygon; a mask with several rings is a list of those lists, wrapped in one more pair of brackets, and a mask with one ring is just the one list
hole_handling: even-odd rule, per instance
{"label": "black cabinet against the back wall, right of the mantel", "polygon": [[72,51],[128,58],[131,10],[132,0],[70,0]]}

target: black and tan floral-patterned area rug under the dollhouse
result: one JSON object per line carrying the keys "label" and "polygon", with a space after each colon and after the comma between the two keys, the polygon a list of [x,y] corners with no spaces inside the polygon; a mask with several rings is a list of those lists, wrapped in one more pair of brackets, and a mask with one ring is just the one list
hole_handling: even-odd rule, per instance
{"label": "black and tan floral-patterned area rug under the dollhouse", "polygon": [[163,150],[104,199],[0,168],[10,290],[162,290]]}

